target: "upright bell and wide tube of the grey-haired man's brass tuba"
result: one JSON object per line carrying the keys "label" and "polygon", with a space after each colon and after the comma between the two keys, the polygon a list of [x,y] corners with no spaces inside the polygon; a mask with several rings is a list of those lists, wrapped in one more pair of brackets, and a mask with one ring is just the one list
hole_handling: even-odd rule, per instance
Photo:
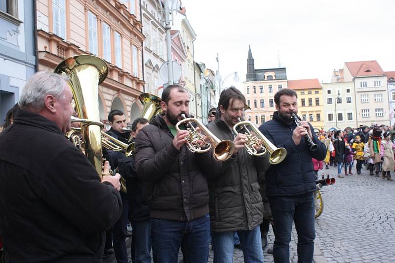
{"label": "upright bell and wide tube of the grey-haired man's brass tuba", "polygon": [[[77,55],[62,61],[54,73],[69,77],[69,86],[73,92],[78,115],[81,119],[80,147],[102,177],[102,123],[99,117],[98,85],[108,73],[104,60],[93,55]],[[99,125],[101,124],[101,126]],[[76,139],[76,137],[74,136]]]}

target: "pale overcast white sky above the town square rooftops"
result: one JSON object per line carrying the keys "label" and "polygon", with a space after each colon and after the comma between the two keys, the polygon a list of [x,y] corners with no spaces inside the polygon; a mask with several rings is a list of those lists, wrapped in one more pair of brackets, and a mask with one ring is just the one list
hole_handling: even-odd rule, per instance
{"label": "pale overcast white sky above the town square rooftops", "polygon": [[288,80],[330,82],[345,62],[395,70],[395,0],[182,0],[197,34],[195,61],[242,88],[248,45],[255,68],[286,67]]}

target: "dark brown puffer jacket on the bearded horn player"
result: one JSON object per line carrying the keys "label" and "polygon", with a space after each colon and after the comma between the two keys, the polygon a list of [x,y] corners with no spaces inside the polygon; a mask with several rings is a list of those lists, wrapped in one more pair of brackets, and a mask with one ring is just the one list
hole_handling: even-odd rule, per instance
{"label": "dark brown puffer jacket on the bearded horn player", "polygon": [[221,165],[212,150],[177,150],[173,138],[161,115],[137,134],[137,175],[147,184],[152,218],[190,221],[209,212],[206,176],[215,176]]}

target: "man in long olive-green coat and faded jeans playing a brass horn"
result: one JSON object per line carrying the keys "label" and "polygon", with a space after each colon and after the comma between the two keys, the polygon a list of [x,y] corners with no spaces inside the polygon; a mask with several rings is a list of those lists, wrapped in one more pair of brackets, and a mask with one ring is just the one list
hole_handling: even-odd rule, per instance
{"label": "man in long olive-green coat and faded jeans playing a brass horn", "polygon": [[221,93],[215,121],[208,129],[219,139],[233,140],[236,151],[222,162],[218,177],[208,180],[210,219],[215,263],[232,263],[237,231],[244,262],[263,262],[259,225],[263,219],[263,203],[259,193],[258,174],[268,169],[268,155],[254,157],[244,148],[247,136],[236,137],[233,127],[244,115],[245,98],[235,87]]}

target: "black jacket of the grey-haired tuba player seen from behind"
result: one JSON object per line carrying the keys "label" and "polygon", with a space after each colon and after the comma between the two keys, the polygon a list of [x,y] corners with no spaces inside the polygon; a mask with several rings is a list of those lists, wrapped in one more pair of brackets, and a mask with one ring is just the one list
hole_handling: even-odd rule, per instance
{"label": "black jacket of the grey-haired tuba player seen from behind", "polygon": [[19,110],[0,133],[0,211],[6,262],[100,262],[122,204],[54,122]]}

